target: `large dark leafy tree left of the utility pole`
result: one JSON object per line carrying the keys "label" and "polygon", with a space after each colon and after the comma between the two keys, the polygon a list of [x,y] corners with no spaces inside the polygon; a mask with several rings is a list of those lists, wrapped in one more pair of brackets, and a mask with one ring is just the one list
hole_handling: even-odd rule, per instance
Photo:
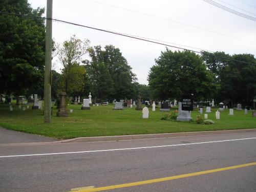
{"label": "large dark leafy tree left of the utility pole", "polygon": [[[26,0],[3,0],[0,11],[41,17]],[[0,93],[21,95],[42,83],[45,24],[42,18],[0,14]]]}

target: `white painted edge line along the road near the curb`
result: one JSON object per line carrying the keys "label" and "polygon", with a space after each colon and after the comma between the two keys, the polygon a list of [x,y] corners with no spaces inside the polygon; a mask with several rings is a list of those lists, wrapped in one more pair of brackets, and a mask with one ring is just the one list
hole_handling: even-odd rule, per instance
{"label": "white painted edge line along the road near the curb", "polygon": [[243,139],[229,139],[229,140],[220,140],[220,141],[206,141],[206,142],[199,142],[199,143],[184,143],[184,144],[160,145],[160,146],[144,146],[144,147],[133,147],[133,148],[116,148],[116,149],[112,149],[112,150],[95,150],[95,151],[45,153],[45,154],[28,154],[28,155],[9,155],[9,156],[0,156],[0,158],[44,156],[44,155],[63,155],[63,154],[94,153],[94,152],[111,152],[111,151],[124,151],[124,150],[139,150],[139,149],[142,149],[142,148],[160,148],[160,147],[184,146],[184,145],[195,145],[195,144],[204,144],[204,143],[220,143],[220,142],[241,141],[241,140],[248,140],[248,139],[256,139],[256,137],[243,138]]}

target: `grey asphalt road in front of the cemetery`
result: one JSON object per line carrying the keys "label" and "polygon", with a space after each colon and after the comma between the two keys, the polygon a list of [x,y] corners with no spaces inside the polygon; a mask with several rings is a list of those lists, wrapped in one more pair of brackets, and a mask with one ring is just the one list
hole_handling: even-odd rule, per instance
{"label": "grey asphalt road in front of the cemetery", "polygon": [[[252,162],[256,162],[256,132],[90,143],[0,144],[0,191],[69,191]],[[256,165],[109,191],[256,191]]]}

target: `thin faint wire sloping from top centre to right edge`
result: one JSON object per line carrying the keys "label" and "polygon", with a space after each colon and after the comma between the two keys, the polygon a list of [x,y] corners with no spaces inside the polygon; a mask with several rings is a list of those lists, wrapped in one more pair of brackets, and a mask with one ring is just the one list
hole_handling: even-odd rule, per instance
{"label": "thin faint wire sloping from top centre to right edge", "polygon": [[134,10],[126,9],[126,8],[123,8],[123,7],[118,7],[118,6],[114,6],[114,5],[110,5],[110,4],[105,4],[105,3],[97,2],[97,1],[94,1],[94,0],[87,0],[87,1],[97,3],[97,4],[101,4],[101,5],[105,5],[105,6],[109,6],[109,7],[114,7],[114,8],[117,8],[117,9],[122,9],[122,10],[125,10],[125,11],[130,11],[130,12],[141,14],[141,15],[146,15],[146,16],[162,19],[162,20],[167,20],[168,22],[173,22],[173,23],[176,23],[176,24],[179,24],[179,25],[190,27],[190,28],[195,28],[195,29],[199,29],[199,30],[203,30],[203,31],[211,32],[211,33],[216,33],[216,34],[223,35],[223,36],[226,36],[226,37],[235,38],[235,39],[239,39],[239,40],[243,40],[243,41],[247,41],[247,42],[251,42],[253,44],[256,44],[255,41],[243,39],[243,38],[240,38],[240,37],[231,36],[231,35],[228,35],[228,34],[225,34],[225,33],[220,33],[218,31],[212,31],[212,30],[209,30],[209,29],[204,29],[204,28],[200,28],[200,27],[197,27],[197,26],[177,22],[176,20],[171,20],[171,19],[168,19],[168,18],[163,18],[163,17],[159,17],[159,16],[156,16],[156,15],[151,15],[151,14],[147,14],[147,13],[143,13],[143,12],[139,12],[139,11],[134,11]]}

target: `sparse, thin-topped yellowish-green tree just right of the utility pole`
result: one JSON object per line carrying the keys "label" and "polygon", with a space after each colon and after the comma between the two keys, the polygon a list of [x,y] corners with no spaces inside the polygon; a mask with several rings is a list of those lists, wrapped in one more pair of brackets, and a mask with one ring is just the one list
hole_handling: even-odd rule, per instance
{"label": "sparse, thin-topped yellowish-green tree just right of the utility pole", "polygon": [[84,87],[85,68],[80,66],[82,56],[87,53],[90,41],[83,41],[76,38],[75,35],[63,42],[59,48],[58,56],[63,65],[61,76],[61,88],[68,95],[74,95],[82,92]]}

